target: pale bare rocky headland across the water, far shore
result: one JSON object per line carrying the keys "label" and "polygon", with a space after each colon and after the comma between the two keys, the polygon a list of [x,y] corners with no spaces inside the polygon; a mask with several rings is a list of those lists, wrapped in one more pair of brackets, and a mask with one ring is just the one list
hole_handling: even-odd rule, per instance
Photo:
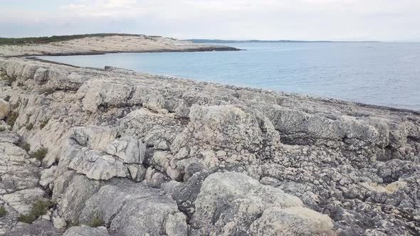
{"label": "pale bare rocky headland across the water, far shore", "polygon": [[89,36],[52,43],[0,45],[0,56],[24,55],[95,55],[104,53],[194,52],[238,50],[224,45],[179,41],[174,38],[145,35]]}

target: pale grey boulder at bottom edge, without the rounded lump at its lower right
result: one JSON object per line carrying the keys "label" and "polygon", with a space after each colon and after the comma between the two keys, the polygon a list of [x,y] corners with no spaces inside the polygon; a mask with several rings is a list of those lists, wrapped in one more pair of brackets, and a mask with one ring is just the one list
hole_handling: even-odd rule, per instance
{"label": "pale grey boulder at bottom edge, without the rounded lump at its lower right", "polygon": [[213,173],[202,183],[191,224],[204,235],[246,234],[266,209],[302,205],[299,198],[242,173]]}

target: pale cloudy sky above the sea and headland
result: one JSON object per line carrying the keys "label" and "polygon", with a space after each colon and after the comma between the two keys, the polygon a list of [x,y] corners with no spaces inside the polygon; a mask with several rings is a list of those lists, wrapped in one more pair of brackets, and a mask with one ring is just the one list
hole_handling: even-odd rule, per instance
{"label": "pale cloudy sky above the sea and headland", "polygon": [[420,41],[420,0],[0,0],[0,37]]}

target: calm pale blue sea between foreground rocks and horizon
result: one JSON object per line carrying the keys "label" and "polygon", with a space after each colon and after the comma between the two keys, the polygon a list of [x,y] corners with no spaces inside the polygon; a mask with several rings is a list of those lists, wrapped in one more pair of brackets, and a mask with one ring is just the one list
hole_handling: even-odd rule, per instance
{"label": "calm pale blue sea between foreground rocks and horizon", "polygon": [[240,43],[235,52],[40,57],[420,110],[420,43]]}

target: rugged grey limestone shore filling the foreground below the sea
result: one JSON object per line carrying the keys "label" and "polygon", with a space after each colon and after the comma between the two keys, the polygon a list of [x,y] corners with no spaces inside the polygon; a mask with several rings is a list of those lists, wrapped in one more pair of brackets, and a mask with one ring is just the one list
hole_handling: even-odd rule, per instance
{"label": "rugged grey limestone shore filling the foreground below the sea", "polygon": [[420,233],[418,112],[0,58],[0,119],[0,234]]}

